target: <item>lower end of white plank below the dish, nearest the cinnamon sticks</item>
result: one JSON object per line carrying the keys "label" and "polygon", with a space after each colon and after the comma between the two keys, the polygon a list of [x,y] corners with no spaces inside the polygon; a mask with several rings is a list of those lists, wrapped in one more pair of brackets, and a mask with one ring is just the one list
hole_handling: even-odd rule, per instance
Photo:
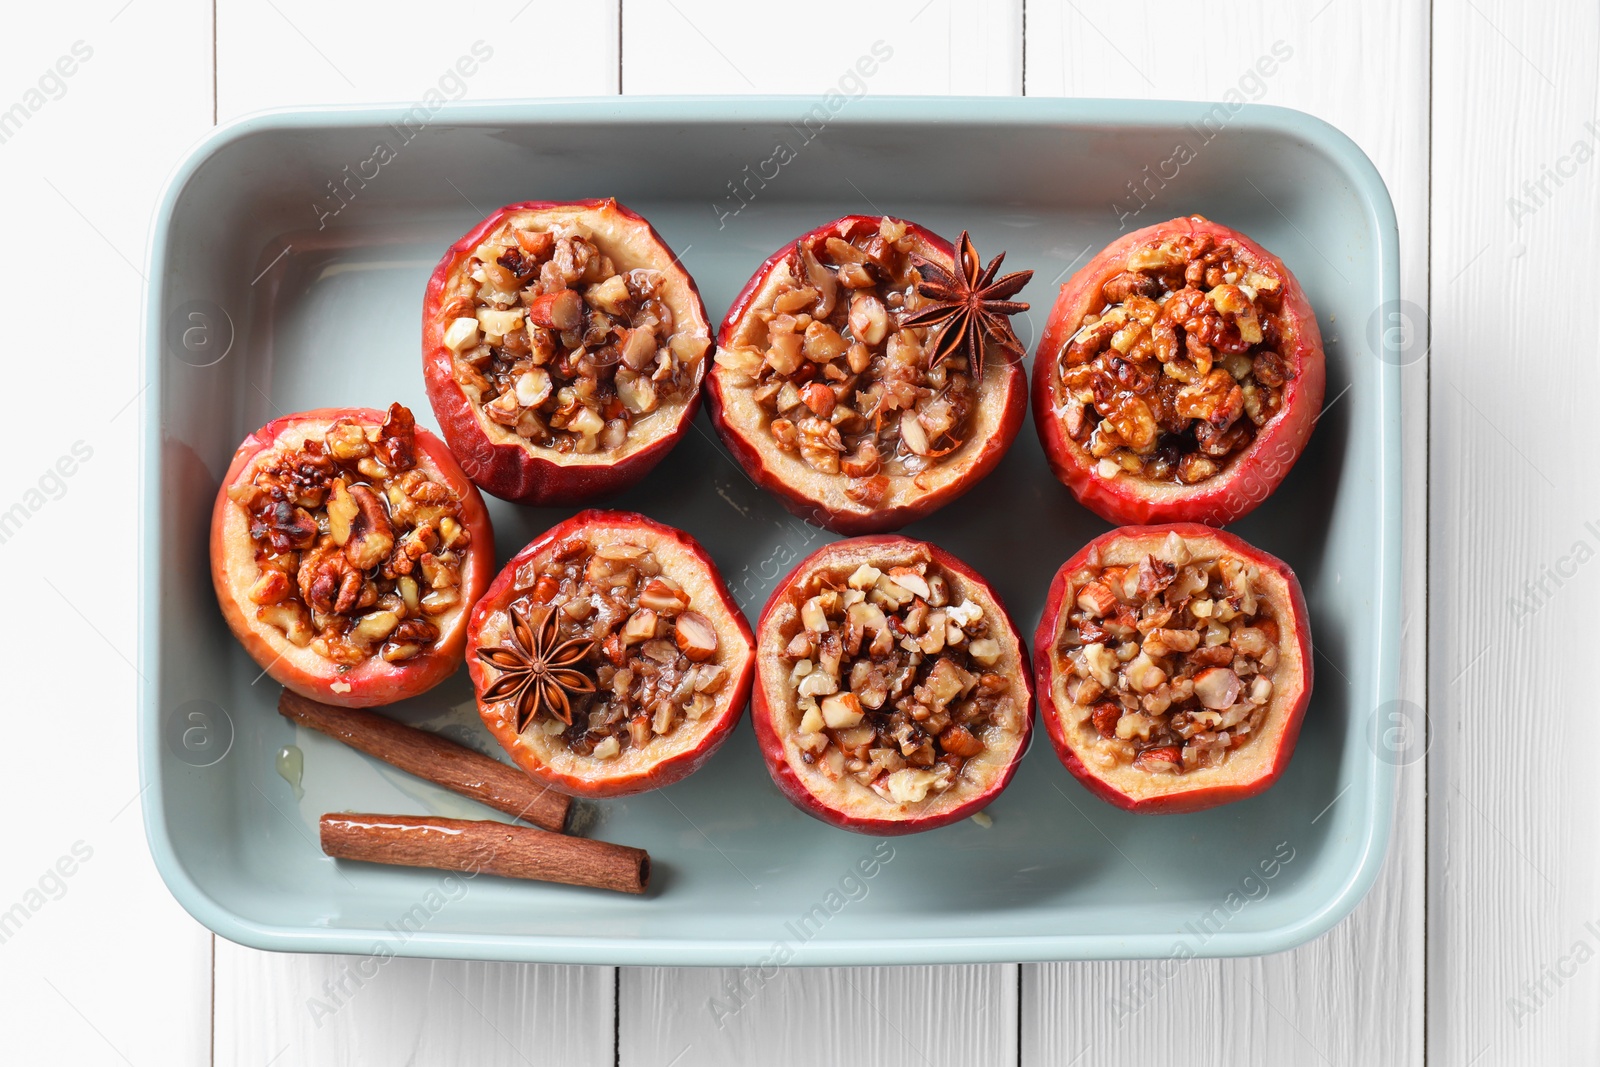
{"label": "lower end of white plank below the dish, nearest the cinnamon sticks", "polygon": [[614,1057],[613,968],[216,945],[218,1067],[608,1067]]}

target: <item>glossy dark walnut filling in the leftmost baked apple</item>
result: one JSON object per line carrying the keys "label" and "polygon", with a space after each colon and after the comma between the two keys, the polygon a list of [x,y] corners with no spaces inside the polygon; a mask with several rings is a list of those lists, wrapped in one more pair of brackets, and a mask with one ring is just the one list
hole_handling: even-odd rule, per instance
{"label": "glossy dark walnut filling in the leftmost baked apple", "polygon": [[227,496],[250,514],[256,617],[349,669],[411,659],[461,603],[461,499],[416,469],[411,413],[333,422],[261,461]]}

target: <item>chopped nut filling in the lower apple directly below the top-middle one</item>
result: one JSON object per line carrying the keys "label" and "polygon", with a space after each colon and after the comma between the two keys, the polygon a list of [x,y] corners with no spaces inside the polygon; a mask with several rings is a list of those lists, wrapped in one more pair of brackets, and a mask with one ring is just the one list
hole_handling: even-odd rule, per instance
{"label": "chopped nut filling in the lower apple directly below the top-middle one", "polygon": [[958,598],[938,565],[864,563],[848,577],[818,574],[800,595],[782,662],[800,709],[795,744],[827,777],[917,803],[1022,729],[984,608]]}

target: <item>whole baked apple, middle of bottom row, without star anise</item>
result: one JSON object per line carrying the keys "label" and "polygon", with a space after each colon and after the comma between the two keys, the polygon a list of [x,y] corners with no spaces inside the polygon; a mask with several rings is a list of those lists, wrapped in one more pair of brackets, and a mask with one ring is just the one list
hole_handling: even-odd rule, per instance
{"label": "whole baked apple, middle of bottom row, without star anise", "polygon": [[1000,795],[1032,729],[1027,648],[942,549],[835,541],[757,624],[755,737],[802,811],[859,833],[931,830]]}

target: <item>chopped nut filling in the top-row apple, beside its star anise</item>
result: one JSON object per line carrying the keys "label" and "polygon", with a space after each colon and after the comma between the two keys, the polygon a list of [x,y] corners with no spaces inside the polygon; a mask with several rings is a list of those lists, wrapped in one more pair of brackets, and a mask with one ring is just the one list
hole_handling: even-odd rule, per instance
{"label": "chopped nut filling in the top-row apple, beside its star anise", "polygon": [[965,355],[930,366],[925,326],[899,322],[930,304],[910,261],[917,240],[885,218],[875,232],[802,243],[768,307],[766,347],[731,347],[717,363],[752,382],[779,448],[848,478],[875,507],[893,475],[917,478],[962,446],[976,389]]}

